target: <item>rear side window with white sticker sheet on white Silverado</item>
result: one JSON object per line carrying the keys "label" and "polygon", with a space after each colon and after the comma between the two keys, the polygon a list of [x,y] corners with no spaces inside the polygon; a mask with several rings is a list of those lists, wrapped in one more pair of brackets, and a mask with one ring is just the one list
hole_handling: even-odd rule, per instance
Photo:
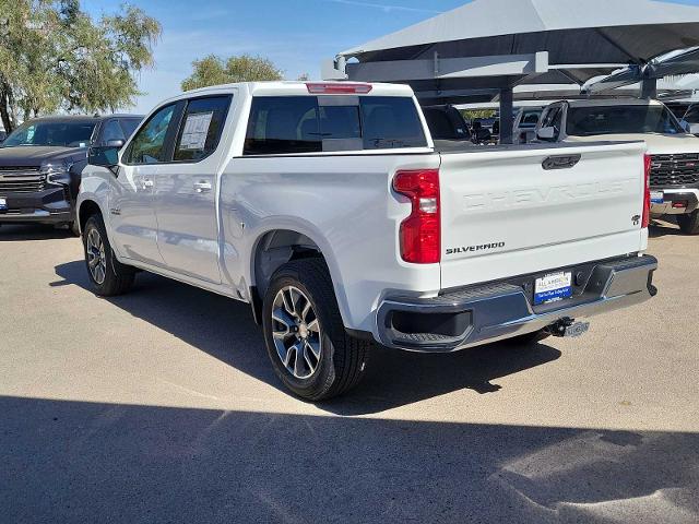
{"label": "rear side window with white sticker sheet on white Silverado", "polygon": [[216,151],[229,105],[229,96],[196,98],[187,104],[175,147],[176,162],[201,160]]}

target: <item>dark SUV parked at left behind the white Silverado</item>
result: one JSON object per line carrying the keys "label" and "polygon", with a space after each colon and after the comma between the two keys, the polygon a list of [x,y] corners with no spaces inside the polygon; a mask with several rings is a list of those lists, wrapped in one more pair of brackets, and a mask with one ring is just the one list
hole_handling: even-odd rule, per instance
{"label": "dark SUV parked at left behind the white Silverado", "polygon": [[119,146],[143,117],[47,117],[24,122],[0,146],[0,225],[75,225],[87,150]]}

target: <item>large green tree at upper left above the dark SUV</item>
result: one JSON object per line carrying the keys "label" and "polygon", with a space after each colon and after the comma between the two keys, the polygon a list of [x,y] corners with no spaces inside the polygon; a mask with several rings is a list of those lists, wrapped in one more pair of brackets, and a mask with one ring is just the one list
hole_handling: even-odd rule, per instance
{"label": "large green tree at upper left above the dark SUV", "polygon": [[159,23],[123,5],[93,20],[80,0],[0,0],[0,117],[66,110],[96,112],[133,105],[135,75],[153,66]]}

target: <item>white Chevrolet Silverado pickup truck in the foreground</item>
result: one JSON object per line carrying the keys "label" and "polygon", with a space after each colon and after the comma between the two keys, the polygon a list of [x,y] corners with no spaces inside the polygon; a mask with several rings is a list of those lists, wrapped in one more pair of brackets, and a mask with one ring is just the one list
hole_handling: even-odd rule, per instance
{"label": "white Chevrolet Silverado pickup truck in the foreground", "polygon": [[145,270],[249,302],[280,379],[319,401],[372,343],[577,335],[652,297],[644,151],[442,151],[406,86],[236,84],[93,148],[78,216],[98,295]]}

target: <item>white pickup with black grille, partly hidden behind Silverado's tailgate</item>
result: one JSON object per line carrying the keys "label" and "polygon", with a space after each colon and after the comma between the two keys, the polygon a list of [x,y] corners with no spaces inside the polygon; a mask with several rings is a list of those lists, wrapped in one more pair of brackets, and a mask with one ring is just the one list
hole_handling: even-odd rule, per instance
{"label": "white pickup with black grille, partly hidden behind Silverado's tailgate", "polygon": [[557,102],[544,110],[536,134],[547,142],[644,141],[650,155],[651,215],[675,215],[685,234],[699,235],[699,139],[687,133],[662,103]]}

